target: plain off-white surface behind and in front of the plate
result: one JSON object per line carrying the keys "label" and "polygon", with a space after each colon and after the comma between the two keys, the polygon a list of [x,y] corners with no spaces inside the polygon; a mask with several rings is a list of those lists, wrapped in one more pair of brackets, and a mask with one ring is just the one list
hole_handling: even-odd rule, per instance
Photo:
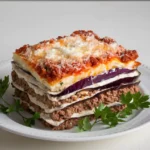
{"label": "plain off-white surface behind and in front of the plate", "polygon": [[[150,2],[0,2],[0,61],[23,44],[77,29],[110,36],[150,66]],[[82,143],[29,139],[0,130],[0,150],[149,150],[150,125],[117,138]]]}

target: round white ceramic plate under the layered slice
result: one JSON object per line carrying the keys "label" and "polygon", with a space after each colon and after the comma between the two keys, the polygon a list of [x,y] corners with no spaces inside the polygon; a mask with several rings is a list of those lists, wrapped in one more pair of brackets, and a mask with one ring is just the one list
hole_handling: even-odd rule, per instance
{"label": "round white ceramic plate under the layered slice", "polygon": [[[140,87],[144,93],[149,94],[150,90],[150,70],[145,67],[139,67],[141,72],[141,83]],[[11,74],[11,61],[2,61],[0,62],[0,78],[3,78],[5,75]],[[10,86],[5,98],[12,102],[13,89]],[[29,115],[29,114],[26,114]],[[36,122],[36,125],[33,128],[26,127],[22,125],[22,120],[17,114],[12,114],[7,116],[3,113],[0,113],[0,128],[7,130],[9,132],[43,140],[51,141],[92,141],[100,140],[106,138],[112,138],[131,131],[135,131],[144,125],[148,124],[150,120],[150,109],[144,109],[142,111],[136,111],[132,116],[127,119],[127,122],[119,124],[114,128],[107,128],[106,126],[99,124],[95,126],[92,131],[78,133],[76,128],[65,131],[51,131],[48,128],[45,128],[40,122]]]}

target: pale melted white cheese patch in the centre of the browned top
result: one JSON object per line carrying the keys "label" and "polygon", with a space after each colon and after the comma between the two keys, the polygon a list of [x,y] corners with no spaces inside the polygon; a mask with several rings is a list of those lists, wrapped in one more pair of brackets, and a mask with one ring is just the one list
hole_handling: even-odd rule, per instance
{"label": "pale melted white cheese patch in the centre of the browned top", "polygon": [[[49,45],[49,43],[47,43]],[[118,44],[106,44],[103,41],[95,39],[94,35],[83,39],[81,36],[68,36],[60,40],[56,40],[45,51],[45,49],[37,49],[33,51],[35,56],[43,56],[47,59],[59,61],[62,59],[82,58],[83,56],[101,56],[105,51],[117,51]],[[101,50],[101,51],[100,51]]]}

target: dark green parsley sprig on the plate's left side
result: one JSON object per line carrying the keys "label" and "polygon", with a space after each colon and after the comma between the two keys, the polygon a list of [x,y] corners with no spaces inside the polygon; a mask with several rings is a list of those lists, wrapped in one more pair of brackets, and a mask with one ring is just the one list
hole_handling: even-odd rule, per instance
{"label": "dark green parsley sprig on the plate's left side", "polygon": [[4,79],[0,79],[0,112],[10,114],[12,112],[18,113],[26,126],[31,127],[35,124],[35,120],[40,118],[40,114],[35,112],[30,118],[22,115],[23,108],[20,105],[20,100],[14,100],[13,104],[8,103],[4,98],[4,94],[9,87],[9,76],[5,76]]}

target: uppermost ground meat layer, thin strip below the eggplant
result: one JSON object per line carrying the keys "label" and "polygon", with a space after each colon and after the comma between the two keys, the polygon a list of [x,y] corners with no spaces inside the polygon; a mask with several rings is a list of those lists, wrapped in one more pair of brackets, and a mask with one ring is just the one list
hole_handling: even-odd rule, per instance
{"label": "uppermost ground meat layer, thin strip below the eggplant", "polygon": [[[28,83],[24,79],[19,78],[15,71],[12,72],[12,79],[15,84],[21,86],[26,93],[28,93],[32,97],[36,98],[37,102],[43,103],[46,106],[46,108],[48,108],[48,109],[59,108],[62,106],[62,104],[66,104],[66,103],[69,104],[69,103],[76,103],[79,101],[83,101],[83,100],[87,99],[87,96],[92,98],[94,96],[99,97],[99,95],[101,95],[101,93],[96,94],[97,92],[100,92],[100,89],[88,89],[88,90],[79,91],[79,92],[75,93],[74,95],[72,95],[71,97],[63,99],[63,100],[51,101],[51,100],[49,100],[47,94],[44,94],[43,96],[36,94],[34,92],[34,89],[30,88]],[[108,93],[109,93],[109,91],[108,91]],[[80,100],[80,98],[83,98],[83,99]],[[108,102],[115,101],[115,100],[110,100],[110,99],[111,98],[106,97],[105,101],[106,102],[107,101]],[[69,105],[68,105],[68,107],[69,107]]]}

